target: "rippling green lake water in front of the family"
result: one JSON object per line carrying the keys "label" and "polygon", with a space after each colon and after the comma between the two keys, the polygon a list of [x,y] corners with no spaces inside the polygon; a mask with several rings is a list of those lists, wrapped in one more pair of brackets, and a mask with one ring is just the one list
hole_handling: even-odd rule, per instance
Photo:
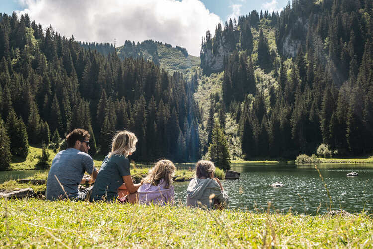
{"label": "rippling green lake water in front of the family", "polygon": [[[193,167],[194,164],[177,165],[178,168]],[[252,165],[232,164],[231,169],[241,173],[238,180],[222,180],[230,197],[230,208],[254,211],[267,209],[287,213],[326,213],[330,199],[318,172],[312,165]],[[320,172],[332,198],[332,209],[354,213],[363,209],[373,213],[373,164],[321,164]],[[357,177],[346,174],[355,171]],[[26,178],[37,170],[0,172],[0,184],[8,179]],[[272,188],[279,181],[285,186]],[[175,182],[175,199],[186,204],[189,182]],[[319,211],[317,211],[319,209]]]}

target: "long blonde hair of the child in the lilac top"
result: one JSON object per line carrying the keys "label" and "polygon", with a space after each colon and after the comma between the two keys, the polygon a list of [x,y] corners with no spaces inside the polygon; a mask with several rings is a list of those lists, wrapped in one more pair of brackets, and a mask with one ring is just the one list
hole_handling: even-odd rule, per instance
{"label": "long blonde hair of the child in the lilac top", "polygon": [[150,183],[157,186],[161,179],[165,179],[165,188],[170,188],[176,167],[170,160],[159,160],[156,165],[149,171],[149,174],[141,183]]}

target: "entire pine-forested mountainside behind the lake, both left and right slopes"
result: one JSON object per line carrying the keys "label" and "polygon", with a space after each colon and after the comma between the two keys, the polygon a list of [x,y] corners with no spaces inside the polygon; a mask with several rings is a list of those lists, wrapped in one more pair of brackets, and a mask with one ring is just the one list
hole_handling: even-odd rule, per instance
{"label": "entire pine-forested mountainside behind the lake, both left and right slopes", "polygon": [[294,159],[322,143],[333,156],[372,152],[371,0],[293,0],[280,13],[217,24],[187,76],[160,66],[169,46],[115,49],[43,30],[27,14],[0,14],[0,164],[74,128],[91,133],[91,155],[106,154],[116,130],[131,130],[140,161],[196,161],[214,127],[234,159]]}

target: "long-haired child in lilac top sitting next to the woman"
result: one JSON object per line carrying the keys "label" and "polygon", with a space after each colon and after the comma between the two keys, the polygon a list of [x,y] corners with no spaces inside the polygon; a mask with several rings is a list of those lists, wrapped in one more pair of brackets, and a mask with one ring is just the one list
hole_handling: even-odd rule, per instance
{"label": "long-haired child in lilac top sitting next to the woman", "polygon": [[161,206],[174,204],[174,186],[172,185],[175,165],[170,160],[160,160],[141,181],[139,203],[151,203]]}

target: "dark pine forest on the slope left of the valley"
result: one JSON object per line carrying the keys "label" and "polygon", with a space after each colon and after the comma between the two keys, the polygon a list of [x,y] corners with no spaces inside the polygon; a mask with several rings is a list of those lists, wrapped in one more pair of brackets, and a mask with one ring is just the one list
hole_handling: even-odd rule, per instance
{"label": "dark pine forest on the slope left of the valley", "polygon": [[0,14],[2,165],[9,151],[25,158],[29,143],[49,144],[74,128],[91,133],[91,155],[106,154],[113,133],[128,129],[139,140],[135,160],[200,157],[195,82],[143,58],[121,60],[111,47]]}

